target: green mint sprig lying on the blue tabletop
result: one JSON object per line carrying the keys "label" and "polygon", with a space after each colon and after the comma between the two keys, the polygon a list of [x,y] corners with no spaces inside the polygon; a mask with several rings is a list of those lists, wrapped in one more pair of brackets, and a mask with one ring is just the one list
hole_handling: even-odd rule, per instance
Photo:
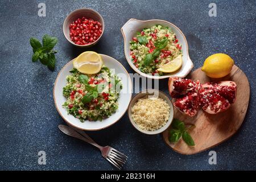
{"label": "green mint sprig lying on the blue tabletop", "polygon": [[33,48],[34,55],[32,55],[32,61],[36,62],[40,60],[43,65],[53,71],[55,68],[56,58],[53,51],[53,47],[57,44],[58,39],[49,35],[43,36],[43,45],[36,38],[30,38],[30,45]]}

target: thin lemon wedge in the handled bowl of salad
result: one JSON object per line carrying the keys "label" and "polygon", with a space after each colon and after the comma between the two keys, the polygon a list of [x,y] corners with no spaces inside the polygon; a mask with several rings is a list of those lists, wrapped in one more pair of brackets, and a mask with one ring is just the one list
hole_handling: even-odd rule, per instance
{"label": "thin lemon wedge in the handled bowl of salad", "polygon": [[158,69],[159,72],[164,73],[172,73],[180,69],[182,65],[182,58],[181,55],[177,56],[174,60],[170,61],[167,64],[164,64],[162,67]]}

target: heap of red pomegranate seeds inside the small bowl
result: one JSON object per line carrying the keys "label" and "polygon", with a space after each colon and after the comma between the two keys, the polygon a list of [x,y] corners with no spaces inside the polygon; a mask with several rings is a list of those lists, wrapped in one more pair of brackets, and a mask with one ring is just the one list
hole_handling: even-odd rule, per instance
{"label": "heap of red pomegranate seeds inside the small bowl", "polygon": [[102,34],[101,23],[93,20],[78,18],[69,24],[69,36],[77,45],[87,45],[95,42]]}

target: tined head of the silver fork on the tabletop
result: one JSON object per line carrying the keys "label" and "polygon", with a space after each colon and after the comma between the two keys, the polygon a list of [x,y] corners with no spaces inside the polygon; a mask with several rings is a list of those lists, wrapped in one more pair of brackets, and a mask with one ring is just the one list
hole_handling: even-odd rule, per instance
{"label": "tined head of the silver fork on the tabletop", "polygon": [[121,169],[123,167],[123,164],[125,164],[127,160],[127,156],[115,150],[114,148],[110,148],[109,154],[106,157],[106,159],[110,163],[112,163],[115,167],[117,167],[118,169]]}

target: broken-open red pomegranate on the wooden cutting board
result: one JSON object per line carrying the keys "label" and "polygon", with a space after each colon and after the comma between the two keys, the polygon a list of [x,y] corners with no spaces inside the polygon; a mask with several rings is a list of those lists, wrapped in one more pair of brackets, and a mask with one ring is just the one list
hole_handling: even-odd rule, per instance
{"label": "broken-open red pomegranate on the wooden cutting board", "polygon": [[200,106],[209,114],[227,110],[236,100],[237,85],[233,81],[200,84],[185,78],[169,78],[169,92],[176,98],[174,106],[191,117]]}

